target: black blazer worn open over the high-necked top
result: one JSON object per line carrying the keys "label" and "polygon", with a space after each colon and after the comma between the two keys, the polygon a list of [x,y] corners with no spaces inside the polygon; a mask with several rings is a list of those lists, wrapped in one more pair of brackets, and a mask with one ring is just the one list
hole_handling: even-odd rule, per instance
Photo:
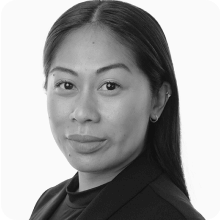
{"label": "black blazer worn open over the high-necked top", "polygon": [[[66,196],[71,179],[48,189],[30,220],[48,220]],[[145,153],[119,173],[84,209],[78,220],[204,219],[182,191]]]}

